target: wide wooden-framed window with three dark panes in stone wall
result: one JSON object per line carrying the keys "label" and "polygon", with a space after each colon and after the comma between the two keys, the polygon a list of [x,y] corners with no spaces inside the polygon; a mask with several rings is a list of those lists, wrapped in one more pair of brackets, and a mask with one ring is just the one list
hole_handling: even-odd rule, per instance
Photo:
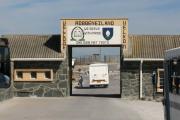
{"label": "wide wooden-framed window with three dark panes in stone wall", "polygon": [[52,81],[51,69],[16,69],[14,81]]}

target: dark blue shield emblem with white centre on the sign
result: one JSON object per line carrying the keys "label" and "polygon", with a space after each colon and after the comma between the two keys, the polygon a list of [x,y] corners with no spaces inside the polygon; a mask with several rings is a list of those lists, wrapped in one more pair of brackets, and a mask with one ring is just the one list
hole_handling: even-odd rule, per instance
{"label": "dark blue shield emblem with white centre on the sign", "polygon": [[110,40],[113,37],[113,28],[103,28],[103,37]]}

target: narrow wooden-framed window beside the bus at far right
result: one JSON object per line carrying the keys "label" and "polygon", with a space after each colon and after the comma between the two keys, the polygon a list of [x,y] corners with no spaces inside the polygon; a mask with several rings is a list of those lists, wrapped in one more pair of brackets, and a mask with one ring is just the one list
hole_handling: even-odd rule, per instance
{"label": "narrow wooden-framed window beside the bus at far right", "polygon": [[157,69],[157,92],[163,92],[164,88],[164,69]]}

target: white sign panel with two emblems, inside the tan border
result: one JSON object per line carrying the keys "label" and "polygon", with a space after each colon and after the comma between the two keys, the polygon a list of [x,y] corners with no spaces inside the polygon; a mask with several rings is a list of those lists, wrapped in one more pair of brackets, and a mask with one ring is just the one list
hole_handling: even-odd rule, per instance
{"label": "white sign panel with two emblems, inside the tan border", "polygon": [[121,26],[67,26],[68,45],[122,44]]}

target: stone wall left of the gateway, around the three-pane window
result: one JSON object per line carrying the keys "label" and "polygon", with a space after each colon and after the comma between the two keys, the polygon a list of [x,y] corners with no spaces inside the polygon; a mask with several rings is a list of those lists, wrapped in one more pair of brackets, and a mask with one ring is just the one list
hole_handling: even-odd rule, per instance
{"label": "stone wall left of the gateway, around the three-pane window", "polygon": [[14,69],[53,69],[50,82],[14,82],[14,96],[60,97],[69,93],[67,61],[21,61],[14,63]]}

